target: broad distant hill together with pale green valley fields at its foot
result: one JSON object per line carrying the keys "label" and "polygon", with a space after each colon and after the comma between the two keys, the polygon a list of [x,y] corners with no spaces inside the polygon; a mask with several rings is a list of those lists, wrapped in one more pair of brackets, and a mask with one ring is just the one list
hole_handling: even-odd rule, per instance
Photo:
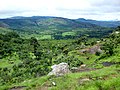
{"label": "broad distant hill together with pale green valley fields at its foot", "polygon": [[0,19],[0,27],[12,29],[25,38],[35,36],[38,39],[45,36],[49,36],[49,38],[45,39],[69,39],[78,38],[85,34],[89,35],[89,37],[99,38],[109,34],[113,30],[74,19],[47,16]]}

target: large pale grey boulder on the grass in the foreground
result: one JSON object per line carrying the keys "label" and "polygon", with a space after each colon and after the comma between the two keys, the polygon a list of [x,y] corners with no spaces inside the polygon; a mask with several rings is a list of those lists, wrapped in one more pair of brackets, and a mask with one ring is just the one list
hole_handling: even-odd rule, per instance
{"label": "large pale grey boulder on the grass in the foreground", "polygon": [[64,74],[70,73],[69,65],[67,63],[60,63],[58,65],[51,66],[52,71],[48,73],[48,76],[55,75],[55,76],[62,76]]}

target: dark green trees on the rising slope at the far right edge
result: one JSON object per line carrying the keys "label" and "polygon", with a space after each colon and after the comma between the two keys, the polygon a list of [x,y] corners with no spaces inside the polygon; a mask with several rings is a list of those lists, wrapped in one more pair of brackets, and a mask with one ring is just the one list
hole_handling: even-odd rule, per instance
{"label": "dark green trees on the rising slope at the far right edge", "polygon": [[112,34],[102,39],[102,41],[104,42],[102,44],[102,49],[105,52],[101,58],[109,57],[115,54],[114,49],[117,48],[120,44],[120,26],[118,26]]}

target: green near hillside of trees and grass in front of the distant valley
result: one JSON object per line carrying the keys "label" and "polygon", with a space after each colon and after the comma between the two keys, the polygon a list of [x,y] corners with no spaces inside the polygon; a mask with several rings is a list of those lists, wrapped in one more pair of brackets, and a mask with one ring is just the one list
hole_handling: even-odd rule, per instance
{"label": "green near hillside of trees and grass in front of the distant valley", "polygon": [[[46,76],[52,65],[61,62],[68,63],[70,70],[85,64],[83,71],[87,72],[78,69],[62,77]],[[110,63],[109,67],[105,63]],[[21,38],[16,32],[0,34],[0,90],[119,90],[119,64],[120,27],[101,39],[85,35],[71,40],[38,40]]]}

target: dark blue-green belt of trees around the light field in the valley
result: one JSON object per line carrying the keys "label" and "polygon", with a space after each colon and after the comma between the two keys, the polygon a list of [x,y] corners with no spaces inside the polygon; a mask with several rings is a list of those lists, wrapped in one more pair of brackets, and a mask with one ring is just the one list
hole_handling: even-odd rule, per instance
{"label": "dark blue-green belt of trees around the light field in the valley", "polygon": [[80,38],[84,35],[88,35],[89,38],[102,38],[103,36],[108,35],[109,33],[112,33],[113,29],[112,28],[99,28],[98,30],[95,28],[88,29],[88,28],[82,28],[78,29],[76,31],[72,31],[73,33],[76,33],[76,35],[65,35],[63,36],[62,32],[56,32],[52,34],[52,37],[55,40],[60,40],[60,39],[77,39]]}

